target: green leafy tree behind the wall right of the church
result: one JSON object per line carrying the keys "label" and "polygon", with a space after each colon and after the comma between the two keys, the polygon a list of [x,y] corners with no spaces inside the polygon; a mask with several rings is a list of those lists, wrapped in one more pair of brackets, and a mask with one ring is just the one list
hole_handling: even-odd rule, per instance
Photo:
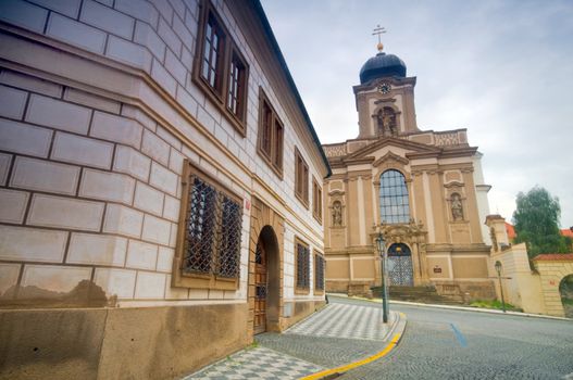
{"label": "green leafy tree behind the wall right of the church", "polygon": [[514,242],[525,242],[530,257],[571,252],[571,238],[561,236],[559,230],[561,206],[557,197],[536,186],[526,194],[520,192],[515,203],[513,224],[518,236]]}

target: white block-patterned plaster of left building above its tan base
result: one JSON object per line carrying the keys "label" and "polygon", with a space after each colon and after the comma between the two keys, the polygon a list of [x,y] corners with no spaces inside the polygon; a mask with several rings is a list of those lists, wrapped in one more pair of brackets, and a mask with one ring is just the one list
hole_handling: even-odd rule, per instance
{"label": "white block-patterned plaster of left building above its tan base", "polygon": [[[10,207],[0,213],[0,263],[10,274],[23,273],[20,284],[49,274],[42,286],[66,292],[72,282],[53,279],[91,279],[124,306],[245,301],[247,208],[239,290],[170,286],[184,157],[244,199],[257,194],[277,203],[271,200],[273,194],[254,190],[254,174],[286,204],[277,211],[286,218],[289,236],[307,237],[311,252],[324,251],[323,228],[312,217],[312,204],[307,208],[295,197],[295,145],[311,176],[322,183],[316,160],[304,149],[228,9],[222,1],[214,4],[250,66],[246,138],[190,80],[197,1],[0,3],[0,20],[8,24],[146,73],[202,126],[197,129],[160,100],[149,105],[169,125],[115,99],[2,68],[0,96],[10,106],[0,106],[0,186],[5,187],[0,200]],[[257,154],[259,86],[285,125],[283,180]],[[174,136],[171,128],[203,151]],[[312,203],[312,177],[309,180]],[[285,264],[292,264],[292,250],[294,243],[285,239]],[[285,265],[285,294],[296,299],[288,290],[292,270]],[[5,277],[9,287],[18,281],[12,275]]]}

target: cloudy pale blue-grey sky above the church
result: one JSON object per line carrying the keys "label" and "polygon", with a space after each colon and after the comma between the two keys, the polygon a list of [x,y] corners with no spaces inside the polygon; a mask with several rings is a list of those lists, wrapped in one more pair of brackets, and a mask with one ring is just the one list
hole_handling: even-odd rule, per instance
{"label": "cloudy pale blue-grey sky above the church", "polygon": [[491,214],[545,187],[573,226],[573,1],[261,0],[322,143],[358,136],[352,86],[376,54],[416,77],[422,130],[468,128]]}

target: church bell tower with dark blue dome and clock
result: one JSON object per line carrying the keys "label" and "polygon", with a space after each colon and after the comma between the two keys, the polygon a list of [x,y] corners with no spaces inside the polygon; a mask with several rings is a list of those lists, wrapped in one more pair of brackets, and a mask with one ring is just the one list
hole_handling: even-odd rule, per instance
{"label": "church bell tower with dark blue dome and clock", "polygon": [[395,137],[419,132],[415,122],[415,77],[406,75],[406,64],[383,51],[368,60],[360,69],[360,85],[354,86],[359,117],[359,139]]}

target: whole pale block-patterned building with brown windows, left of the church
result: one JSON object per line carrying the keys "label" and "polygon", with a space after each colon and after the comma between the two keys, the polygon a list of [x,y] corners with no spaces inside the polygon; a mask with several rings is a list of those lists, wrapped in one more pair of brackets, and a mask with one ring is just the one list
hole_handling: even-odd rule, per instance
{"label": "whole pale block-patterned building with brown windows, left of the church", "polygon": [[258,0],[0,1],[0,378],[177,378],[324,303]]}

